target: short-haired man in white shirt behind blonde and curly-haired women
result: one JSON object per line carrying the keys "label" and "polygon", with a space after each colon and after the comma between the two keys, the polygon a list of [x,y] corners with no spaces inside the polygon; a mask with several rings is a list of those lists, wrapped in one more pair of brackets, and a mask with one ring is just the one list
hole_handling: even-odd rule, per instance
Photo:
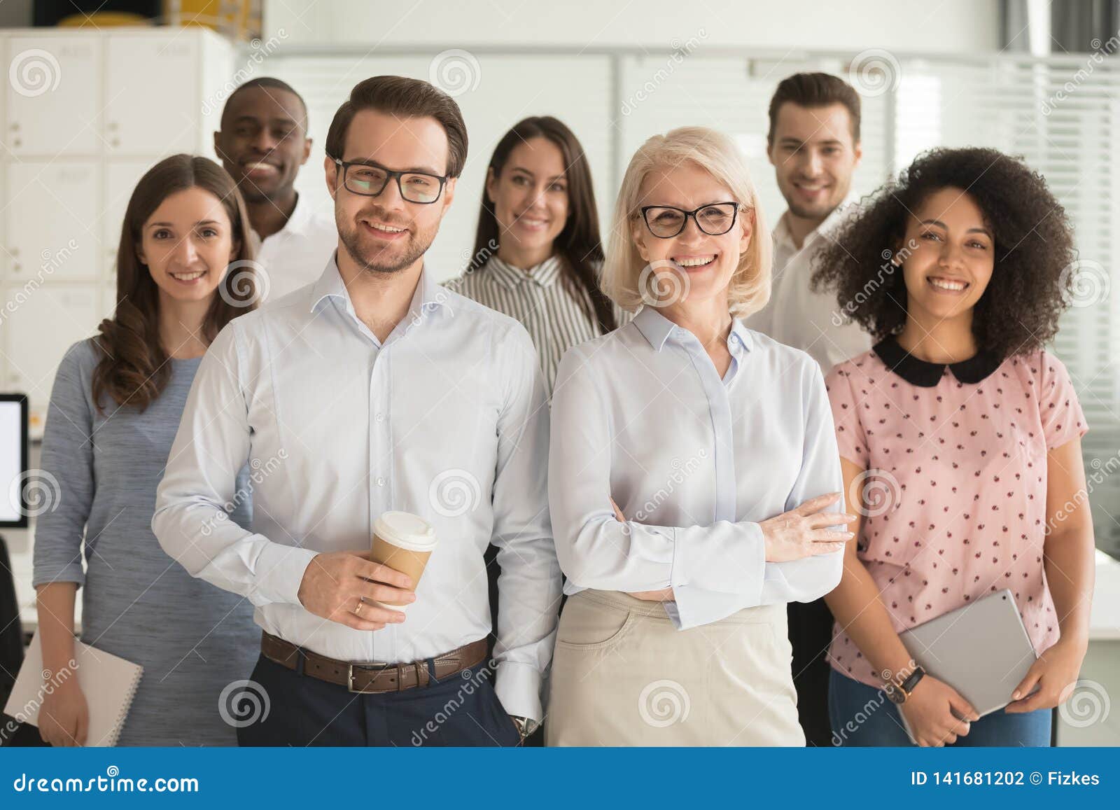
{"label": "short-haired man in white shirt behind blonde and curly-haired women", "polygon": [[[871,347],[870,337],[841,317],[836,296],[810,289],[814,255],[855,205],[851,178],[862,157],[859,117],[859,94],[827,73],[787,76],[769,105],[766,149],[788,208],[774,229],[769,302],[747,326],[808,352],[822,373]],[[805,743],[831,745],[824,652],[832,641],[832,614],[824,599],[791,602],[787,618]]]}

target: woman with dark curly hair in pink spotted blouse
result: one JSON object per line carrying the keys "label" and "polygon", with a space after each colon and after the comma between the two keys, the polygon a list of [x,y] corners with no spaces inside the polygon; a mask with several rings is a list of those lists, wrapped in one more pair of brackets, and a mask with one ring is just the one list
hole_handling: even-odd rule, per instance
{"label": "woman with dark curly hair in pink spotted blouse", "polygon": [[[1083,501],[1085,418],[1043,347],[1073,260],[1065,212],[991,149],[922,155],[866,203],[813,277],[877,341],[825,381],[862,515],[825,597],[833,743],[909,745],[889,698],[918,745],[1048,745],[1093,580],[1089,509],[1068,509]],[[1004,588],[1038,659],[981,718],[899,633]]]}

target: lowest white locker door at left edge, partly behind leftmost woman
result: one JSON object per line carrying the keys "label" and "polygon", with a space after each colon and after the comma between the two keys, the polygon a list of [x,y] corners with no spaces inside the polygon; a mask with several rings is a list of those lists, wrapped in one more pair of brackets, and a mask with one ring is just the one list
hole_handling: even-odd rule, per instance
{"label": "lowest white locker door at left edge, partly behind leftmost woman", "polygon": [[96,285],[45,283],[3,290],[4,389],[27,393],[34,413],[45,413],[55,371],[66,350],[97,330],[103,300]]}

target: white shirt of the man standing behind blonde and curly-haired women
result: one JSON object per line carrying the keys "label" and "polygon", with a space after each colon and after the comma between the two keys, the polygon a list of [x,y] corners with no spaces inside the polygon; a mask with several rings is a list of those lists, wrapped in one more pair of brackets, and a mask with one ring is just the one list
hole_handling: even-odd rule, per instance
{"label": "white shirt of the man standing behind blonde and curly-haired women", "polygon": [[774,229],[774,283],[771,299],[763,309],[746,319],[746,325],[778,343],[808,352],[827,374],[832,366],[871,348],[871,337],[846,317],[834,292],[813,292],[809,288],[813,259],[831,239],[844,216],[856,212],[855,197],[848,197],[832,211],[815,231],[805,236],[799,249],[790,234],[786,212]]}

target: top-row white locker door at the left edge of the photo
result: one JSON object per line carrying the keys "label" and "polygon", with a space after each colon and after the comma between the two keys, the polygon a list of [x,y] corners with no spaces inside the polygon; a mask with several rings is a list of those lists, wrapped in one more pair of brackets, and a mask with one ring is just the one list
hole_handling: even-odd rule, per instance
{"label": "top-row white locker door at the left edge of the photo", "polygon": [[4,143],[12,155],[101,149],[97,37],[10,37]]}

